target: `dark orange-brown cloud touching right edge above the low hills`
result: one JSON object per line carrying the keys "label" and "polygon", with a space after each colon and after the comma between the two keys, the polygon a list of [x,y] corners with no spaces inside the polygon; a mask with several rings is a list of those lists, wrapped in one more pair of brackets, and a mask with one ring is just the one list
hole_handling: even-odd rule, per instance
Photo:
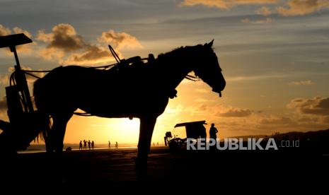
{"label": "dark orange-brown cloud touching right edge above the low hills", "polygon": [[296,98],[289,102],[288,108],[296,109],[301,114],[329,115],[329,98]]}

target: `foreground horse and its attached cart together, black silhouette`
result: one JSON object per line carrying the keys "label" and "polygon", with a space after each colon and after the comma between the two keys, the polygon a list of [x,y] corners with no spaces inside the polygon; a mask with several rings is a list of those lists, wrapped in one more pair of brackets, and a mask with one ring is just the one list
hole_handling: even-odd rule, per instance
{"label": "foreground horse and its attached cart together, black silhouette", "polygon": [[[73,114],[106,118],[140,119],[136,170],[146,170],[154,125],[177,86],[187,78],[204,81],[219,93],[226,82],[221,73],[213,41],[174,49],[154,58],[120,59],[110,47],[116,64],[107,66],[59,66],[37,78],[33,99],[18,61],[16,45],[32,42],[23,34],[0,37],[0,47],[9,47],[16,59],[11,85],[6,88],[9,122],[0,122],[3,150],[26,148],[41,134],[49,153],[62,153],[67,122]],[[194,72],[195,75],[190,75]],[[37,77],[37,76],[35,76]],[[32,101],[34,100],[34,102]],[[84,113],[75,111],[83,110]]]}

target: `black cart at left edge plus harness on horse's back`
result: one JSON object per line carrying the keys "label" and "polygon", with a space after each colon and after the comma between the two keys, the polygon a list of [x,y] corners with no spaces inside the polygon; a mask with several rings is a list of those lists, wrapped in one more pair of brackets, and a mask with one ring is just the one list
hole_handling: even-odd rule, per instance
{"label": "black cart at left edge plus harness on horse's back", "polygon": [[[29,37],[21,34],[0,36],[0,48],[9,47],[13,53],[16,65],[11,73],[9,86],[6,87],[6,101],[4,102],[8,108],[8,120],[5,122],[0,120],[0,153],[15,154],[18,150],[25,150],[30,146],[30,143],[39,138],[47,138],[50,132],[50,116],[39,112],[33,103],[26,75],[35,76],[33,73],[49,72],[49,71],[27,71],[21,68],[16,47],[33,42]],[[149,58],[142,59],[141,57],[132,57],[129,59],[120,59],[114,49],[109,45],[110,52],[117,60],[116,64],[107,66],[97,66],[94,69],[125,69],[125,66],[130,64],[143,63],[147,60],[149,63],[154,60],[153,54],[149,54]],[[76,113],[81,116],[90,116],[88,113]],[[47,140],[45,140],[47,145]]]}

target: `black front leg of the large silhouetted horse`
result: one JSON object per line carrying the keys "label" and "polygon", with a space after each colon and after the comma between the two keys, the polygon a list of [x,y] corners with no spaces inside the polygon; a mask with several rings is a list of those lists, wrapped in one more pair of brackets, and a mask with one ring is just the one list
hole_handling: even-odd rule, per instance
{"label": "black front leg of the large silhouetted horse", "polygon": [[135,171],[137,172],[137,175],[146,175],[147,155],[149,155],[156,118],[156,116],[140,118],[138,153],[135,164]]}

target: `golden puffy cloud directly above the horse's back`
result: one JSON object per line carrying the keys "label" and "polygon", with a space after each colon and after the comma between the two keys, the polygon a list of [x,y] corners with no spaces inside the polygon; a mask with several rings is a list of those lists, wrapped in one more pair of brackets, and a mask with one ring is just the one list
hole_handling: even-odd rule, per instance
{"label": "golden puffy cloud directly above the horse's back", "polygon": [[126,32],[115,32],[114,30],[109,30],[107,32],[102,32],[102,35],[98,38],[99,42],[106,42],[113,45],[117,49],[128,48],[142,48],[136,37],[127,34]]}

